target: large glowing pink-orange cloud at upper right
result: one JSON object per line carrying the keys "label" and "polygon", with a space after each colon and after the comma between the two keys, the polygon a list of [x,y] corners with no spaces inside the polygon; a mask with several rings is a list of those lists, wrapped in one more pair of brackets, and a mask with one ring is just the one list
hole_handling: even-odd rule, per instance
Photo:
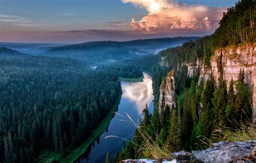
{"label": "large glowing pink-orange cloud at upper right", "polygon": [[180,4],[176,0],[122,0],[145,8],[148,15],[140,21],[132,18],[132,29],[159,33],[173,30],[210,31],[218,27],[225,8]]}

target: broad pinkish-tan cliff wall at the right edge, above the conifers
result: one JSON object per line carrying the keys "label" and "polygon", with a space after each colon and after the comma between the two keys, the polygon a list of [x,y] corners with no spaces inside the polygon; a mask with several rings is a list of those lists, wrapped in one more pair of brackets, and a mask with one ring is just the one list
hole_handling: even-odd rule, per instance
{"label": "broad pinkish-tan cliff wall at the right edge, above the conifers", "polygon": [[250,87],[253,94],[253,116],[256,121],[256,44],[245,44],[230,46],[215,51],[211,58],[211,66],[202,66],[197,60],[196,63],[186,64],[188,75],[191,77],[193,72],[200,69],[200,80],[207,80],[211,72],[218,84],[218,79],[223,74],[227,86],[230,81],[237,80],[240,69],[245,71],[245,82]]}

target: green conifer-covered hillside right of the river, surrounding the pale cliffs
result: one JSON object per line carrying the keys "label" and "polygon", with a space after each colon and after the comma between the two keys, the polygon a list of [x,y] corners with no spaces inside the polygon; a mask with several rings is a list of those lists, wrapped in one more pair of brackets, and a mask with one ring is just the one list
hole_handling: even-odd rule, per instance
{"label": "green conifer-covered hillside right of the river, surrounding the pale cliffs", "polygon": [[[242,0],[224,13],[213,35],[164,50],[159,55],[123,60],[124,64],[135,63],[153,74],[156,105],[152,117],[145,108],[147,118],[134,136],[135,145],[128,142],[124,148],[123,159],[168,159],[174,151],[198,150],[226,140],[230,138],[225,137],[227,131],[231,135],[241,131],[251,134],[252,93],[245,83],[244,70],[228,87],[221,75],[217,80],[216,74],[210,74],[207,80],[199,80],[199,75],[201,67],[211,69],[215,50],[255,43],[255,18],[255,1]],[[198,64],[201,67],[192,75],[188,73],[189,65]],[[221,64],[218,66],[218,73],[223,74]],[[176,73],[176,107],[158,108],[160,84],[170,71]],[[245,126],[250,127],[244,130]],[[255,139],[255,133],[250,136]]]}

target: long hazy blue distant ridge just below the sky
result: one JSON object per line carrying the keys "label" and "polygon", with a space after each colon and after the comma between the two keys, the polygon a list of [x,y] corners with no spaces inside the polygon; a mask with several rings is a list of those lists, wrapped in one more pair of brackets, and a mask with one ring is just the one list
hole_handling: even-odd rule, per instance
{"label": "long hazy blue distant ridge just below the sky", "polygon": [[161,50],[179,46],[198,38],[199,37],[174,37],[140,39],[128,42],[88,42],[53,47],[41,55],[78,59],[86,63],[95,64],[110,59],[119,60],[148,55],[150,53],[158,53]]}

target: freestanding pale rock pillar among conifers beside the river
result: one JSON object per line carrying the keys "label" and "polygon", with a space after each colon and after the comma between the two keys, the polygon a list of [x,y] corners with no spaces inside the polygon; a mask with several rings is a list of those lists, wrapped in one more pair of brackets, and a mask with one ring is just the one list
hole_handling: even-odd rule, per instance
{"label": "freestanding pale rock pillar among conifers beside the river", "polygon": [[168,76],[162,81],[160,86],[160,97],[159,97],[159,109],[162,107],[172,105],[176,107],[175,103],[175,73],[174,71],[169,72]]}

